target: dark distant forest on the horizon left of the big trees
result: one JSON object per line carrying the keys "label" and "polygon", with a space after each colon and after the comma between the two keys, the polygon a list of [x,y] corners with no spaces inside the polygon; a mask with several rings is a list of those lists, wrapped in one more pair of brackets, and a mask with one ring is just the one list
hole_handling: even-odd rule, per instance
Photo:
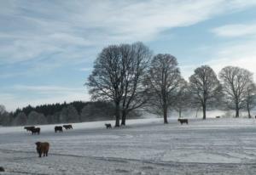
{"label": "dark distant forest on the horizon left of the big trees", "polygon": [[[2,106],[2,108],[4,108]],[[135,113],[133,113],[133,116]],[[103,121],[114,119],[114,108],[110,102],[74,101],[63,104],[28,105],[14,112],[2,110],[0,125],[26,126],[39,124],[55,124],[83,121]]]}

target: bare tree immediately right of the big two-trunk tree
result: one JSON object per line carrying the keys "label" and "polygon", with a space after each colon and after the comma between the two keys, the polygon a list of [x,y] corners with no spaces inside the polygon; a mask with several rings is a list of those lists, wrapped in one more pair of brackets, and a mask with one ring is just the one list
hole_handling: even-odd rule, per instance
{"label": "bare tree immediately right of the big two-trunk tree", "polygon": [[154,56],[145,85],[151,96],[151,99],[148,100],[149,111],[163,115],[164,123],[168,123],[168,110],[172,105],[181,79],[175,57],[171,54],[157,54]]}

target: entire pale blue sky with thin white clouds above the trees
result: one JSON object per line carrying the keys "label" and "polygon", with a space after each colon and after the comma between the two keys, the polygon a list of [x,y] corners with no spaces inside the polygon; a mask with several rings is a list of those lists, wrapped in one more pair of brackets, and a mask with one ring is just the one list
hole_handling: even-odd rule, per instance
{"label": "entire pale blue sky with thin white clouds above the trees", "polygon": [[201,65],[255,74],[255,17],[256,0],[0,0],[0,104],[90,100],[84,83],[110,44],[172,54],[186,79]]}

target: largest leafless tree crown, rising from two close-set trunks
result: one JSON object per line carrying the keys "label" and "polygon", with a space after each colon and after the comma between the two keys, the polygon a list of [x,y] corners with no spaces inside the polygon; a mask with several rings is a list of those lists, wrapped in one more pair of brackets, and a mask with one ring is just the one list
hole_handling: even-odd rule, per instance
{"label": "largest leafless tree crown, rising from two close-set trunks", "polygon": [[146,101],[139,97],[143,97],[142,81],[150,58],[148,47],[136,42],[108,46],[95,61],[86,85],[92,99],[113,101],[116,127],[119,127],[120,113],[125,125],[127,114]]}

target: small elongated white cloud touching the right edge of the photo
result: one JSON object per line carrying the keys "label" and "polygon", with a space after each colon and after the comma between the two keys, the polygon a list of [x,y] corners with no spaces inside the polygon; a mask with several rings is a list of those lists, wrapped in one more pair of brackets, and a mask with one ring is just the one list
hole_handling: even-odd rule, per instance
{"label": "small elongated white cloud touching the right edge of the photo", "polygon": [[223,25],[212,30],[218,37],[256,36],[256,24]]}

